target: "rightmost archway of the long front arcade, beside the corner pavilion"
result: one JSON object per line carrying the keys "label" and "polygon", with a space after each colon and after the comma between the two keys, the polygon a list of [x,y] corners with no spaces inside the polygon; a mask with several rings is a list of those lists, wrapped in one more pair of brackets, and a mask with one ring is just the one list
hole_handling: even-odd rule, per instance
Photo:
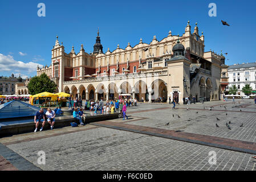
{"label": "rightmost archway of the long front arcade, beside the corner pavilion", "polygon": [[157,101],[162,101],[163,102],[166,102],[167,101],[167,84],[160,80],[160,79],[157,79],[155,80],[152,85],[151,85],[151,88],[153,90],[153,93],[152,93],[152,100],[155,100],[155,102]]}

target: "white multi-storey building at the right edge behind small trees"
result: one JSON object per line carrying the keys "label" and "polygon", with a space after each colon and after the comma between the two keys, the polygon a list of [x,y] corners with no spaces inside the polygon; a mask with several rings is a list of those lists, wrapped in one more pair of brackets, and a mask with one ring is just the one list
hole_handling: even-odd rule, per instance
{"label": "white multi-storey building at the right edge behind small trees", "polygon": [[247,84],[253,88],[252,93],[256,93],[256,63],[229,65],[227,74],[229,75],[229,84],[226,87],[226,93],[231,86],[235,85],[238,89],[237,94],[244,95],[242,88]]}

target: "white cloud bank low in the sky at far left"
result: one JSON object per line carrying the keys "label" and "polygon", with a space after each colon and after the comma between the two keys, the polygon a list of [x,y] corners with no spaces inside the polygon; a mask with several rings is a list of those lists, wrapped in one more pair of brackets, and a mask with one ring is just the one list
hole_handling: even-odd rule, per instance
{"label": "white cloud bank low in the sky at far left", "polygon": [[10,55],[2,55],[0,53],[0,72],[17,72],[17,73],[32,73],[36,72],[36,67],[42,67],[38,63],[34,63],[30,61],[29,63],[24,63],[22,61],[16,61],[13,59],[13,56]]}

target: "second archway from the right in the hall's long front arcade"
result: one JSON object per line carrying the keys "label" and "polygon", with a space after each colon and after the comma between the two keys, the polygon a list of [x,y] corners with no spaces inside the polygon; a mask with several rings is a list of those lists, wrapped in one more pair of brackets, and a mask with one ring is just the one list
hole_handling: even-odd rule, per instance
{"label": "second archway from the right in the hall's long front arcade", "polygon": [[145,101],[148,101],[148,86],[145,81],[138,81],[136,82],[135,86],[135,98],[138,101],[142,100],[142,97]]}

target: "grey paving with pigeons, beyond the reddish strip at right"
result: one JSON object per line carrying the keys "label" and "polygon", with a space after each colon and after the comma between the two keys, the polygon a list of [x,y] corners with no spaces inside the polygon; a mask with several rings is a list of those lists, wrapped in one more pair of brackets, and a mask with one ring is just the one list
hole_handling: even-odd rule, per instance
{"label": "grey paving with pigeons, beyond the reddish strip at right", "polygon": [[[246,101],[243,104],[247,104],[247,102],[253,104],[250,107],[256,108],[253,101]],[[222,104],[222,107],[220,107],[220,104]],[[164,106],[162,106],[162,108],[155,111],[148,109],[148,111],[136,113],[129,113],[128,110],[128,116],[148,117],[148,119],[129,122],[128,124],[256,142],[256,110],[254,109],[254,112],[247,113],[246,111],[249,109],[246,107],[232,107],[234,104],[231,102],[225,102],[225,104],[223,104],[223,101],[214,101],[205,102],[204,104],[178,105],[175,110],[172,110],[171,106],[169,106],[169,109],[165,109]],[[213,105],[213,109],[208,110],[208,108]],[[224,106],[227,107],[227,110],[225,110]],[[189,108],[188,110],[186,110],[187,107]],[[240,109],[242,111],[239,111]],[[179,115],[180,118],[178,118],[177,115]],[[220,121],[217,121],[217,118],[220,119]],[[226,123],[229,122],[231,130],[226,127]],[[166,125],[166,123],[169,123],[169,125]],[[220,127],[216,127],[216,123]],[[242,123],[243,127],[240,127]]]}

